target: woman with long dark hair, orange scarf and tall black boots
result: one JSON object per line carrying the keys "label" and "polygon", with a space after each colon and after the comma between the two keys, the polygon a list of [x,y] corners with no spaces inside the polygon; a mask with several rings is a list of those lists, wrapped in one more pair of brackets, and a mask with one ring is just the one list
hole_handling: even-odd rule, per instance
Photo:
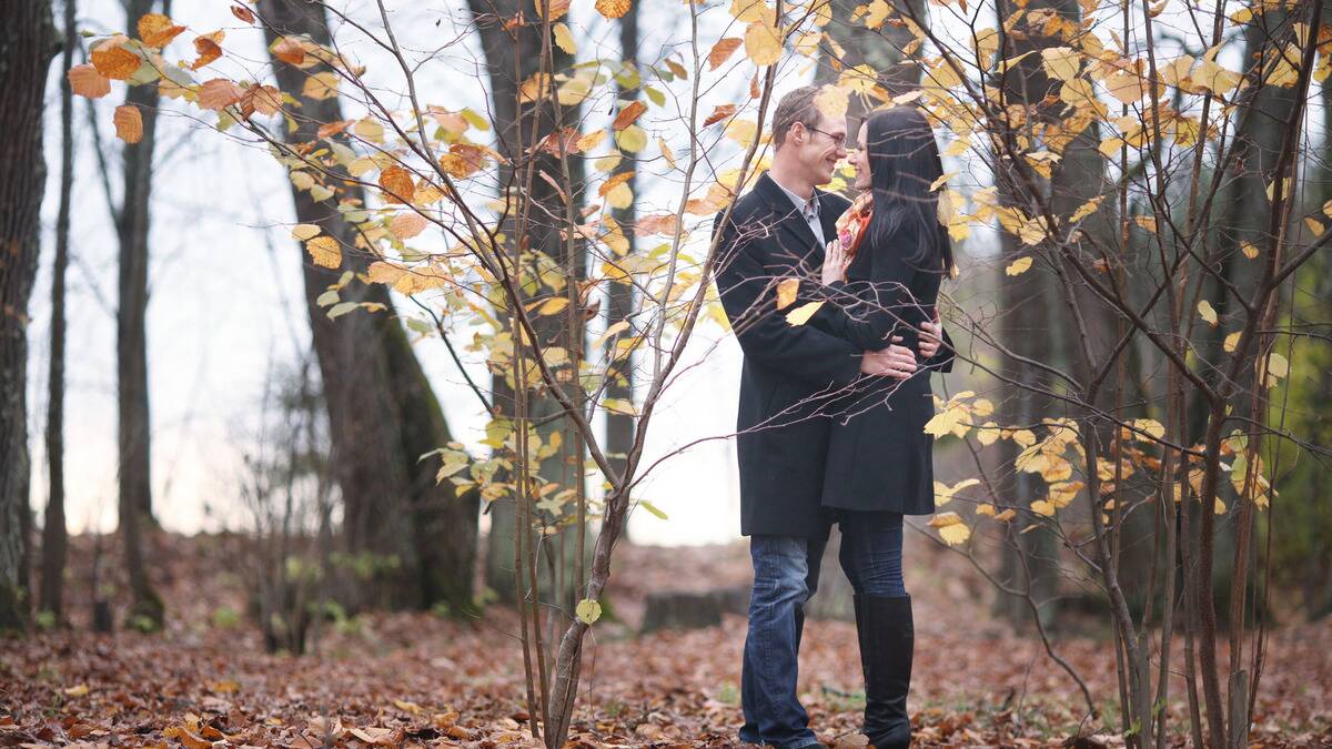
{"label": "woman with long dark hair, orange scarf and tall black boots", "polygon": [[908,746],[914,629],[902,581],[902,516],[934,512],[930,372],[952,360],[947,344],[920,361],[919,328],[935,320],[939,284],[952,272],[938,220],[939,149],[924,115],[895,107],[870,115],[852,156],[860,197],[838,221],[823,263],[830,331],[870,351],[900,339],[918,352],[906,380],[871,377],[850,393],[832,428],[823,505],[842,528],[842,568],[855,589],[864,733],[876,749]]}

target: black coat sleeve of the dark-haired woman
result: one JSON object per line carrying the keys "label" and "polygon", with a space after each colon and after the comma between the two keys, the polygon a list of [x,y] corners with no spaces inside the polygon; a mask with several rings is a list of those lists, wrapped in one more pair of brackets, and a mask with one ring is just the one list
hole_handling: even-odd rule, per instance
{"label": "black coat sleeve of the dark-haired woman", "polygon": [[[911,241],[903,236],[900,241]],[[864,351],[883,351],[892,336],[902,336],[902,345],[915,348],[915,331],[907,324],[918,313],[911,296],[915,269],[903,259],[902,248],[862,245],[868,253],[868,277],[835,281],[825,288],[829,329]],[[822,312],[822,311],[821,311]]]}

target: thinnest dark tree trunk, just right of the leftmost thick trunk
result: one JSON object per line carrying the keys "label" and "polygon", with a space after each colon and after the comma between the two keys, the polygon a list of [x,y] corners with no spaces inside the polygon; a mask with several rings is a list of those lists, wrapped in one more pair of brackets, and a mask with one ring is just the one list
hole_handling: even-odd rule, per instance
{"label": "thinnest dark tree trunk, just right of the leftmost thick trunk", "polygon": [[[79,29],[75,0],[65,0],[65,49],[60,69],[73,67]],[[73,92],[60,76],[60,212],[56,216],[56,260],[51,269],[51,367],[47,376],[47,461],[51,485],[41,528],[40,609],[64,618],[65,530],[65,269],[69,267],[69,200],[73,192]]]}

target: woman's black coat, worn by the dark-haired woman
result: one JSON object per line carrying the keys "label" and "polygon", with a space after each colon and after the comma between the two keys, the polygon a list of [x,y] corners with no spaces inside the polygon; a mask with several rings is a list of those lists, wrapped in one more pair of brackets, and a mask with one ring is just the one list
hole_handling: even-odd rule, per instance
{"label": "woman's black coat, worn by the dark-haired woman", "polygon": [[[892,336],[918,349],[915,331],[934,320],[944,273],[940,260],[931,268],[907,261],[918,241],[912,229],[898,231],[882,243],[864,237],[846,283],[827,287],[831,304],[826,307],[832,315],[821,316],[819,324],[863,351],[883,349]],[[924,433],[934,416],[930,374],[951,372],[952,359],[952,341],[944,333],[939,353],[920,363],[910,378],[864,377],[854,393],[838,401],[823,472],[825,506],[934,512],[934,437]]]}

